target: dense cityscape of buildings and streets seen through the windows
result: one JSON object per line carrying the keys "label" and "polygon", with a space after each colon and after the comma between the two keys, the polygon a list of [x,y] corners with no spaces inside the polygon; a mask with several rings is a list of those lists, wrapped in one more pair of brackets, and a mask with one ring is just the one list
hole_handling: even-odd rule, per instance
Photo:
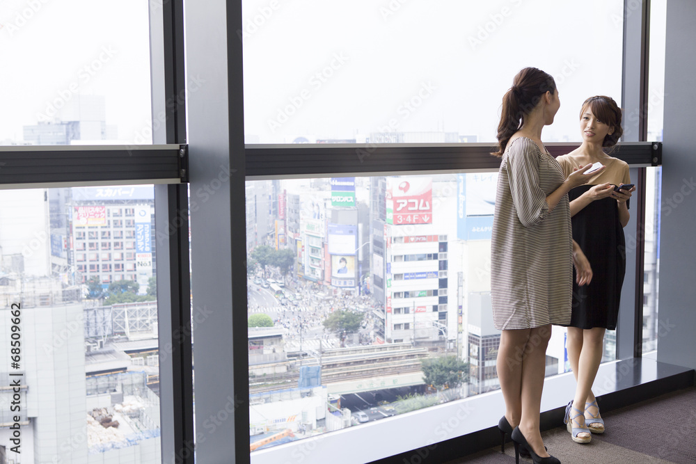
{"label": "dense cityscape of buildings and streets seen through the windows", "polygon": [[[74,120],[24,127],[24,144],[116,138],[103,97],[79,102]],[[385,136],[365,139],[476,141],[444,132]],[[310,141],[356,142],[294,140]],[[246,182],[251,451],[499,387],[500,334],[489,294],[496,177]],[[658,191],[658,169],[648,182]],[[7,309],[0,324],[9,327],[13,303],[32,308],[22,330],[33,342],[26,352],[35,353],[20,393],[29,407],[19,424],[31,451],[17,462],[63,456],[88,463],[105,454],[159,462],[154,204],[152,186],[0,192],[0,297]],[[649,198],[648,218],[659,204],[658,196]],[[653,226],[646,237],[646,351],[656,343]],[[554,330],[547,376],[569,370],[564,336]],[[603,360],[614,353],[615,333],[608,332]],[[64,365],[66,359],[80,362]],[[442,366],[456,375],[436,379],[433,369]],[[54,387],[54,378],[63,386]],[[0,399],[8,405],[10,394]],[[84,406],[68,414],[66,403]],[[62,419],[61,428],[46,425],[63,415],[68,426]],[[11,424],[2,417],[5,449]]]}

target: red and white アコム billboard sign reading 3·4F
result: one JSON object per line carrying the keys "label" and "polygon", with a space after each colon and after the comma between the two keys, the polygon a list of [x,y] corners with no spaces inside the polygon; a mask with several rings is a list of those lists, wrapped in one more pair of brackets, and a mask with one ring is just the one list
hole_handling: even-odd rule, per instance
{"label": "red and white \u30a2\u30b3\u30e0 billboard sign reading 3\u00b74F", "polygon": [[432,224],[432,178],[387,178],[387,223]]}

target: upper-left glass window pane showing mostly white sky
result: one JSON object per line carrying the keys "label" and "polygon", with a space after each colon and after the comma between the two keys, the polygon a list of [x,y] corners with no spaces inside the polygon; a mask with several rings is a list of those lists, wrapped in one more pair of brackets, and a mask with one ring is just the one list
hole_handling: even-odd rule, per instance
{"label": "upper-left glass window pane showing mostly white sky", "polygon": [[0,15],[0,145],[152,143],[148,2],[10,1]]}

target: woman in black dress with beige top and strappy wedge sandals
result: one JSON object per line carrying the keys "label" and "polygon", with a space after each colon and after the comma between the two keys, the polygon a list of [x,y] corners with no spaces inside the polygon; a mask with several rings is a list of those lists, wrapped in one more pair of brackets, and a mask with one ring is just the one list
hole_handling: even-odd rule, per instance
{"label": "woman in black dress with beige top and strappy wedge sandals", "polygon": [[573,288],[567,349],[578,385],[566,408],[565,422],[574,442],[587,443],[592,440],[591,432],[604,432],[592,383],[602,359],[604,333],[616,328],[626,271],[624,227],[629,218],[628,198],[635,186],[619,189],[631,183],[628,164],[604,152],[605,148],[611,150],[622,134],[621,109],[612,98],[585,100],[580,132],[583,145],[557,158],[564,173],[569,175],[588,163],[605,166],[587,184],[568,193],[573,239],[589,259],[594,278],[590,285]]}

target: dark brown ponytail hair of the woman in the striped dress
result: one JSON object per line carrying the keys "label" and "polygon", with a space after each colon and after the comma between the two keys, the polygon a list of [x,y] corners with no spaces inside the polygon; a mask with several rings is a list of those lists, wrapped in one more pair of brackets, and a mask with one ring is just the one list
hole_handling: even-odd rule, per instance
{"label": "dark brown ponytail hair of the woman in the striped dress", "polygon": [[512,80],[512,87],[503,95],[503,113],[498,124],[498,151],[502,157],[507,142],[524,125],[524,117],[537,106],[546,92],[555,93],[556,83],[550,74],[536,67],[525,67]]}

